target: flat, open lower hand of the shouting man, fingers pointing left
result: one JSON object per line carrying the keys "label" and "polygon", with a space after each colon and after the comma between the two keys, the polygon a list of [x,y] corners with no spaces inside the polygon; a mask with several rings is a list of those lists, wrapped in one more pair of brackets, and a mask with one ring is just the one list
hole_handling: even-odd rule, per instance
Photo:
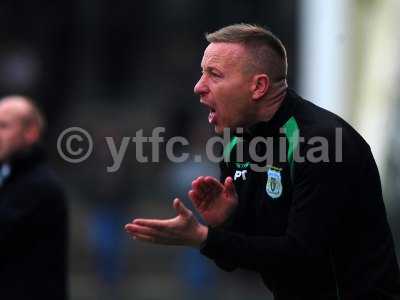
{"label": "flat, open lower hand of the shouting man, fingers pointing left", "polygon": [[208,228],[200,224],[193,212],[176,198],[173,207],[177,216],[172,219],[135,219],[125,225],[134,239],[164,245],[200,247],[206,240]]}

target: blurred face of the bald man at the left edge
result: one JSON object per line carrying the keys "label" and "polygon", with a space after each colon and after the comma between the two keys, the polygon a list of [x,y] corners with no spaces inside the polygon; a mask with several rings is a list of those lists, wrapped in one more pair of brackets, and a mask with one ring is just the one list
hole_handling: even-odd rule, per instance
{"label": "blurred face of the bald man at the left edge", "polygon": [[6,105],[0,104],[0,162],[26,146],[26,129],[21,117]]}

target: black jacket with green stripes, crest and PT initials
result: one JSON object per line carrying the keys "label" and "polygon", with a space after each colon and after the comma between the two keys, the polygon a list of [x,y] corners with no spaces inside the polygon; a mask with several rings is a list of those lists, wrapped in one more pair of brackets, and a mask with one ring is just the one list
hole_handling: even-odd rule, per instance
{"label": "black jacket with green stripes, crest and PT initials", "polygon": [[[256,137],[273,143],[251,147]],[[400,299],[378,169],[349,124],[289,90],[269,122],[224,153],[221,179],[235,179],[239,205],[209,227],[202,254],[226,271],[260,273],[276,300]]]}

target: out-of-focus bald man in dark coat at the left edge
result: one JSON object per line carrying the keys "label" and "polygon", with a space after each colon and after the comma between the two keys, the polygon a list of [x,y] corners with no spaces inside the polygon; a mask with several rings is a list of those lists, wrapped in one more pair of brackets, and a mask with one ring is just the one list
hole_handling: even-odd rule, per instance
{"label": "out-of-focus bald man in dark coat at the left edge", "polygon": [[31,99],[0,100],[1,299],[67,299],[66,198],[40,146],[44,129]]}

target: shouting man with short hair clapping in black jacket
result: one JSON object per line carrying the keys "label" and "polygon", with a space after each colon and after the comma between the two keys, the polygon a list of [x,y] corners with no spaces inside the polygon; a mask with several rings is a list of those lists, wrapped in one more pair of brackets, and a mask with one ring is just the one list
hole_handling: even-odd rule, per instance
{"label": "shouting man with short hair clapping in black jacket", "polygon": [[[258,272],[279,300],[400,299],[399,267],[369,145],[341,118],[288,89],[286,50],[271,32],[238,24],[206,38],[195,93],[209,108],[216,133],[235,132],[224,151],[221,181],[198,177],[188,193],[208,226],[175,199],[175,218],[135,219],[127,232],[139,241],[198,248],[226,271]],[[274,140],[273,149],[260,143],[253,148],[265,158],[261,162],[251,153],[252,139],[260,137]],[[327,157],[321,147],[313,150],[315,137],[327,141]],[[281,138],[284,160],[276,148]],[[245,160],[235,160],[240,149]]]}

